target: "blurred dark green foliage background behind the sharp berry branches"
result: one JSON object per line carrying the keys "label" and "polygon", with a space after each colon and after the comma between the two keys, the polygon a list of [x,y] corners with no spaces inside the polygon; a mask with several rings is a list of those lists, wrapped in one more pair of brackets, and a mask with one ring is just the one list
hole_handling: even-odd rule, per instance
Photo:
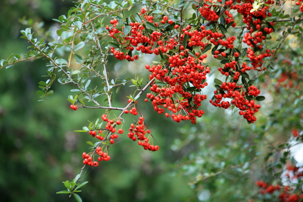
{"label": "blurred dark green foliage background behind the sharp berry branches", "polygon": [[[28,43],[19,38],[20,30],[43,26],[52,34],[58,27],[52,18],[66,15],[72,6],[74,3],[67,0],[1,2],[0,58],[26,53]],[[129,65],[112,58],[108,71],[111,78],[132,78],[133,72],[148,78],[148,72],[140,67],[142,63],[146,61]],[[72,111],[66,100],[72,86],[58,82],[52,85],[54,94],[38,102],[36,91],[38,82],[44,80],[41,75],[45,74],[45,64],[45,60],[36,59],[0,70],[1,201],[75,201],[66,194],[55,193],[65,190],[62,181],[71,181],[80,172],[82,152],[88,152],[89,147],[86,141],[95,139],[73,131],[81,130],[88,125],[87,120],[95,121],[104,113],[87,108]],[[278,73],[267,80],[261,76],[262,88],[274,89]],[[212,96],[213,90],[210,85],[204,93]],[[287,96],[289,91],[297,91],[298,95]],[[265,174],[260,166],[263,160],[256,153],[266,153],[268,142],[287,141],[291,128],[300,126],[302,100],[296,101],[302,94],[300,90],[282,89],[275,99],[275,90],[263,92],[267,101],[258,112],[258,121],[251,125],[237,115],[238,111],[231,114],[231,110],[214,108],[208,101],[205,115],[196,125],[177,124],[159,116],[151,104],[145,107],[144,98],[140,98],[139,107],[146,114],[160,150],[145,151],[126,133],[124,137],[120,135],[110,147],[110,161],[85,169],[82,180],[89,183],[79,195],[83,201],[108,202],[247,201],[257,191],[254,182]],[[122,87],[114,104],[125,106],[129,93],[130,88]],[[127,119],[126,131],[133,117],[123,118]],[[225,172],[200,181],[218,171]]]}

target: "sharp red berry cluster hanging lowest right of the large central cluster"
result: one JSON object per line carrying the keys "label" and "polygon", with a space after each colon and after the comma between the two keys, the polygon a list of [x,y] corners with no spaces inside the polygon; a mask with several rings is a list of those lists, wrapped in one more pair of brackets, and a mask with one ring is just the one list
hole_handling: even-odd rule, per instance
{"label": "sharp red berry cluster hanging lowest right of the large central cluster", "polygon": [[[223,90],[224,93],[221,93]],[[226,92],[225,92],[226,91]],[[261,108],[261,105],[255,104],[253,97],[257,97],[260,94],[260,90],[256,86],[250,86],[248,89],[243,86],[238,86],[235,82],[223,82],[220,89],[214,91],[214,98],[209,100],[215,107],[227,109],[234,104],[235,107],[239,108],[239,114],[250,123],[254,123],[257,120],[255,113]],[[248,99],[247,96],[250,96]],[[223,98],[233,98],[231,102],[222,101]]]}

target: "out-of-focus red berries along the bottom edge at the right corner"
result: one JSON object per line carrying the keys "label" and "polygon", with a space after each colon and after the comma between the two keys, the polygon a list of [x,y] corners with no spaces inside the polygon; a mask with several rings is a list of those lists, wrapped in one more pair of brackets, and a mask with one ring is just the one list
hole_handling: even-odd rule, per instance
{"label": "out-of-focus red berries along the bottom edge at the right corner", "polygon": [[[259,193],[260,194],[273,194],[275,191],[281,191],[283,188],[281,185],[267,185],[266,182],[262,180],[258,180],[256,182],[256,185],[260,187]],[[283,188],[283,192],[279,194],[279,201],[281,202],[299,202],[303,199],[303,194],[295,194],[290,193],[292,191],[292,188],[290,188],[288,185]]]}

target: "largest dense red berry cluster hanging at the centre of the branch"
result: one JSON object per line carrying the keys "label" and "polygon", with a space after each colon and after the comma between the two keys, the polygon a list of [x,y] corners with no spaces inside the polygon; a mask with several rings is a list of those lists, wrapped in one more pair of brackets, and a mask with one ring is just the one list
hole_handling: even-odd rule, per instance
{"label": "largest dense red berry cluster hanging at the centre of the branch", "polygon": [[[204,81],[206,75],[210,73],[210,69],[202,63],[202,60],[206,58],[207,55],[197,54],[196,57],[186,57],[185,54],[188,54],[188,49],[185,50],[185,52],[181,51],[179,54],[168,58],[171,76],[165,76],[168,69],[163,68],[162,65],[153,65],[152,67],[149,65],[145,66],[145,68],[152,73],[150,79],[155,77],[158,80],[168,83],[167,87],[160,87],[154,83],[150,88],[153,93],[148,93],[146,97],[152,101],[155,111],[159,114],[164,113],[165,108],[168,108],[169,111],[174,113],[171,115],[174,121],[191,120],[192,123],[195,123],[195,116],[201,117],[204,111],[202,110],[203,113],[198,113],[198,111],[200,112],[198,108],[201,104],[195,100],[192,101],[192,99],[192,102],[188,100],[194,94],[186,91],[186,89],[183,88],[183,84],[190,82],[196,89],[204,88],[208,85],[208,83]],[[176,93],[180,94],[182,99],[176,98]],[[205,95],[203,96],[205,97]],[[172,97],[175,97],[175,99],[171,99]],[[192,110],[195,110],[195,112],[192,112]],[[178,111],[184,111],[186,115],[176,114]],[[165,116],[168,117],[168,113],[166,113]]]}

